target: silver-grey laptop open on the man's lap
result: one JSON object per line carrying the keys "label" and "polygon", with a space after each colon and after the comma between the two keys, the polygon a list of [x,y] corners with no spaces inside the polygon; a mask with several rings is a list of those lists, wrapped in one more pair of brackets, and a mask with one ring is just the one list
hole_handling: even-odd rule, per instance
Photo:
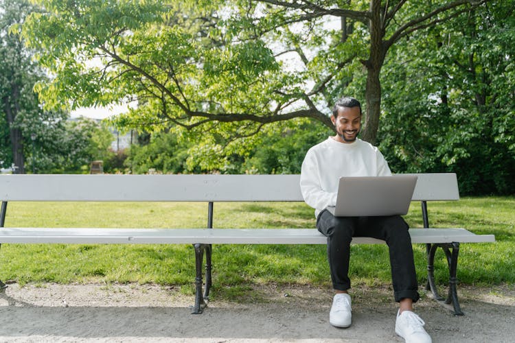
{"label": "silver-grey laptop open on the man's lap", "polygon": [[328,207],[336,217],[405,215],[417,176],[341,177],[336,206]]}

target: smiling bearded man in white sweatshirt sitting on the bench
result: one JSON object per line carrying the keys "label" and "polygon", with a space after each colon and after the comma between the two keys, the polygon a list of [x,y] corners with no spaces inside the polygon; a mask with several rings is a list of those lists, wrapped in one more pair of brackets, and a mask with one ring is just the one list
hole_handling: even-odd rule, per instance
{"label": "smiling bearded man in white sweatshirt sitting on the bench", "polygon": [[348,274],[352,237],[383,239],[389,247],[393,292],[400,304],[396,333],[406,342],[431,342],[424,321],[413,313],[419,299],[408,224],[400,215],[387,217],[334,217],[325,208],[336,204],[341,176],[391,176],[387,161],[377,147],[358,139],[361,104],[343,97],[334,105],[331,121],[334,137],[310,148],[301,168],[300,186],[306,204],[315,209],[317,228],[328,237],[328,260],[335,295],[329,314],[334,327],[352,322]]}

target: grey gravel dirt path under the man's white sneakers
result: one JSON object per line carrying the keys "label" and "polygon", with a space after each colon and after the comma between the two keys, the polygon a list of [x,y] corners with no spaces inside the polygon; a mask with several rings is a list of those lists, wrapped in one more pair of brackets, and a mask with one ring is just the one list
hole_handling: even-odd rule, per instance
{"label": "grey gravel dirt path under the man's white sneakers", "polygon": [[[0,293],[1,342],[403,342],[388,289],[354,289],[353,324],[328,323],[331,294],[264,287],[239,303],[214,300],[190,314],[192,296],[157,285],[10,285]],[[424,296],[416,312],[433,342],[515,342],[515,289],[461,287],[466,316]]]}

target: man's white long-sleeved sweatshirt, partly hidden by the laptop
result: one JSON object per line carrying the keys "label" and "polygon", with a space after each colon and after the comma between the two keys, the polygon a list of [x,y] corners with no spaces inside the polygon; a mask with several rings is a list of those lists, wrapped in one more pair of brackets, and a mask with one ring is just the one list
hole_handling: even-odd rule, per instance
{"label": "man's white long-sleeved sweatshirt, partly hidden by the laptop", "polygon": [[314,145],[302,163],[300,187],[315,215],[336,205],[341,176],[391,176],[391,171],[378,148],[361,139],[340,143],[329,137]]}

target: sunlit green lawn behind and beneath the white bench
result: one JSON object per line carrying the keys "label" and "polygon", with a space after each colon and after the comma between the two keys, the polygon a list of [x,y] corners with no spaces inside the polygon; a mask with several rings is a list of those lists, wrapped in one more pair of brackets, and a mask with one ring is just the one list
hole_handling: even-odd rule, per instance
{"label": "sunlit green lawn behind and beneath the white bench", "polygon": [[[515,198],[462,198],[431,202],[433,227],[464,227],[496,235],[495,243],[462,244],[459,281],[468,285],[515,283]],[[205,203],[10,202],[5,226],[106,228],[202,228]],[[405,217],[422,227],[420,204]],[[314,228],[313,211],[303,203],[216,203],[214,227]],[[417,276],[426,282],[425,246],[413,246]],[[330,287],[325,246],[214,246],[214,291],[225,296],[245,292],[249,284],[310,284]],[[436,281],[446,284],[444,253],[437,253]],[[194,253],[189,245],[3,244],[0,279],[18,283],[158,283],[179,285],[192,294]],[[386,246],[352,246],[354,285],[389,285]]]}

